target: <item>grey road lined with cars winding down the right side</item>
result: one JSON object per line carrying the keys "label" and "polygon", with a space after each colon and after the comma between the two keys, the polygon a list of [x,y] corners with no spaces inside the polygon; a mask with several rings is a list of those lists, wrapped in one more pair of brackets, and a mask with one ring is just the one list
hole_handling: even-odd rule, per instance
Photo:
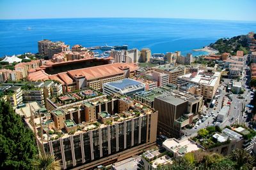
{"label": "grey road lined with cars winding down the right side", "polygon": [[[206,114],[205,122],[200,123],[198,121],[196,122],[195,127],[193,127],[192,129],[186,129],[184,131],[186,133],[186,136],[190,136],[190,137],[196,136],[197,131],[199,129],[205,128],[209,125],[214,125],[214,122],[216,122],[215,117],[216,115],[218,115],[218,111],[221,110],[221,106],[222,106],[221,103],[228,94],[232,102],[230,104],[230,110],[228,111],[228,115],[223,120],[223,122],[221,122],[220,127],[224,128],[225,126],[234,124],[234,123],[245,124],[246,126],[248,126],[248,123],[250,122],[250,118],[252,117],[252,113],[250,108],[247,108],[246,105],[250,104],[250,101],[254,93],[251,92],[250,87],[247,86],[248,82],[250,81],[248,79],[248,75],[250,74],[250,72],[246,71],[245,68],[246,68],[246,60],[244,60],[244,71],[242,72],[241,80],[239,80],[242,83],[243,89],[245,89],[244,93],[239,95],[239,94],[229,94],[228,92],[226,92],[225,85],[228,85],[228,83],[234,80],[223,78],[224,82],[218,88],[218,90],[220,90],[220,93],[216,94],[216,96],[217,95],[220,96],[218,97],[218,99],[216,99],[216,101],[218,101],[217,106],[214,106],[214,108],[206,108],[204,106],[204,113]],[[212,114],[211,114],[212,112],[214,113],[214,117],[212,117]]]}

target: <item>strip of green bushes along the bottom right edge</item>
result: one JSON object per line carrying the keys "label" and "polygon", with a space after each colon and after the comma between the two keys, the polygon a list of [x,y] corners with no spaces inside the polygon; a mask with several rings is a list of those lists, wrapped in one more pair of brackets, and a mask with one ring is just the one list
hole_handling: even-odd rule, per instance
{"label": "strip of green bushes along the bottom right edge", "polygon": [[173,164],[158,166],[157,169],[165,170],[194,170],[194,169],[252,169],[256,162],[245,150],[233,150],[224,157],[218,153],[203,151],[189,152],[184,157],[173,159]]}

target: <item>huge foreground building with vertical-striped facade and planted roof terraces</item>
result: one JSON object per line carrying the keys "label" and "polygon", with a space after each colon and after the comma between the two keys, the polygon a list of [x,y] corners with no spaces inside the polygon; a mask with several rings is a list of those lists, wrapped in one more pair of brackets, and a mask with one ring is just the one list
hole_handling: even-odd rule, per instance
{"label": "huge foreground building with vertical-striped facade and planted roof terraces", "polygon": [[[99,118],[102,112],[107,116]],[[51,139],[45,131],[43,138],[36,138],[46,153],[61,160],[61,169],[106,166],[156,145],[157,112],[124,97],[101,96],[65,104],[52,110],[51,118],[42,118],[44,127],[53,122],[49,131],[56,131]],[[29,119],[26,122],[31,127]]]}

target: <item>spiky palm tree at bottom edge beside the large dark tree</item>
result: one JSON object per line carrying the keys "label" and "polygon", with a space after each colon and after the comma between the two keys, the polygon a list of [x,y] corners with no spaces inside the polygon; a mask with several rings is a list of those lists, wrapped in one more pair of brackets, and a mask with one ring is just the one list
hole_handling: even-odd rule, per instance
{"label": "spiky palm tree at bottom edge beside the large dark tree", "polygon": [[59,170],[61,169],[60,160],[55,160],[54,155],[40,154],[38,159],[34,160],[33,166],[40,170]]}

